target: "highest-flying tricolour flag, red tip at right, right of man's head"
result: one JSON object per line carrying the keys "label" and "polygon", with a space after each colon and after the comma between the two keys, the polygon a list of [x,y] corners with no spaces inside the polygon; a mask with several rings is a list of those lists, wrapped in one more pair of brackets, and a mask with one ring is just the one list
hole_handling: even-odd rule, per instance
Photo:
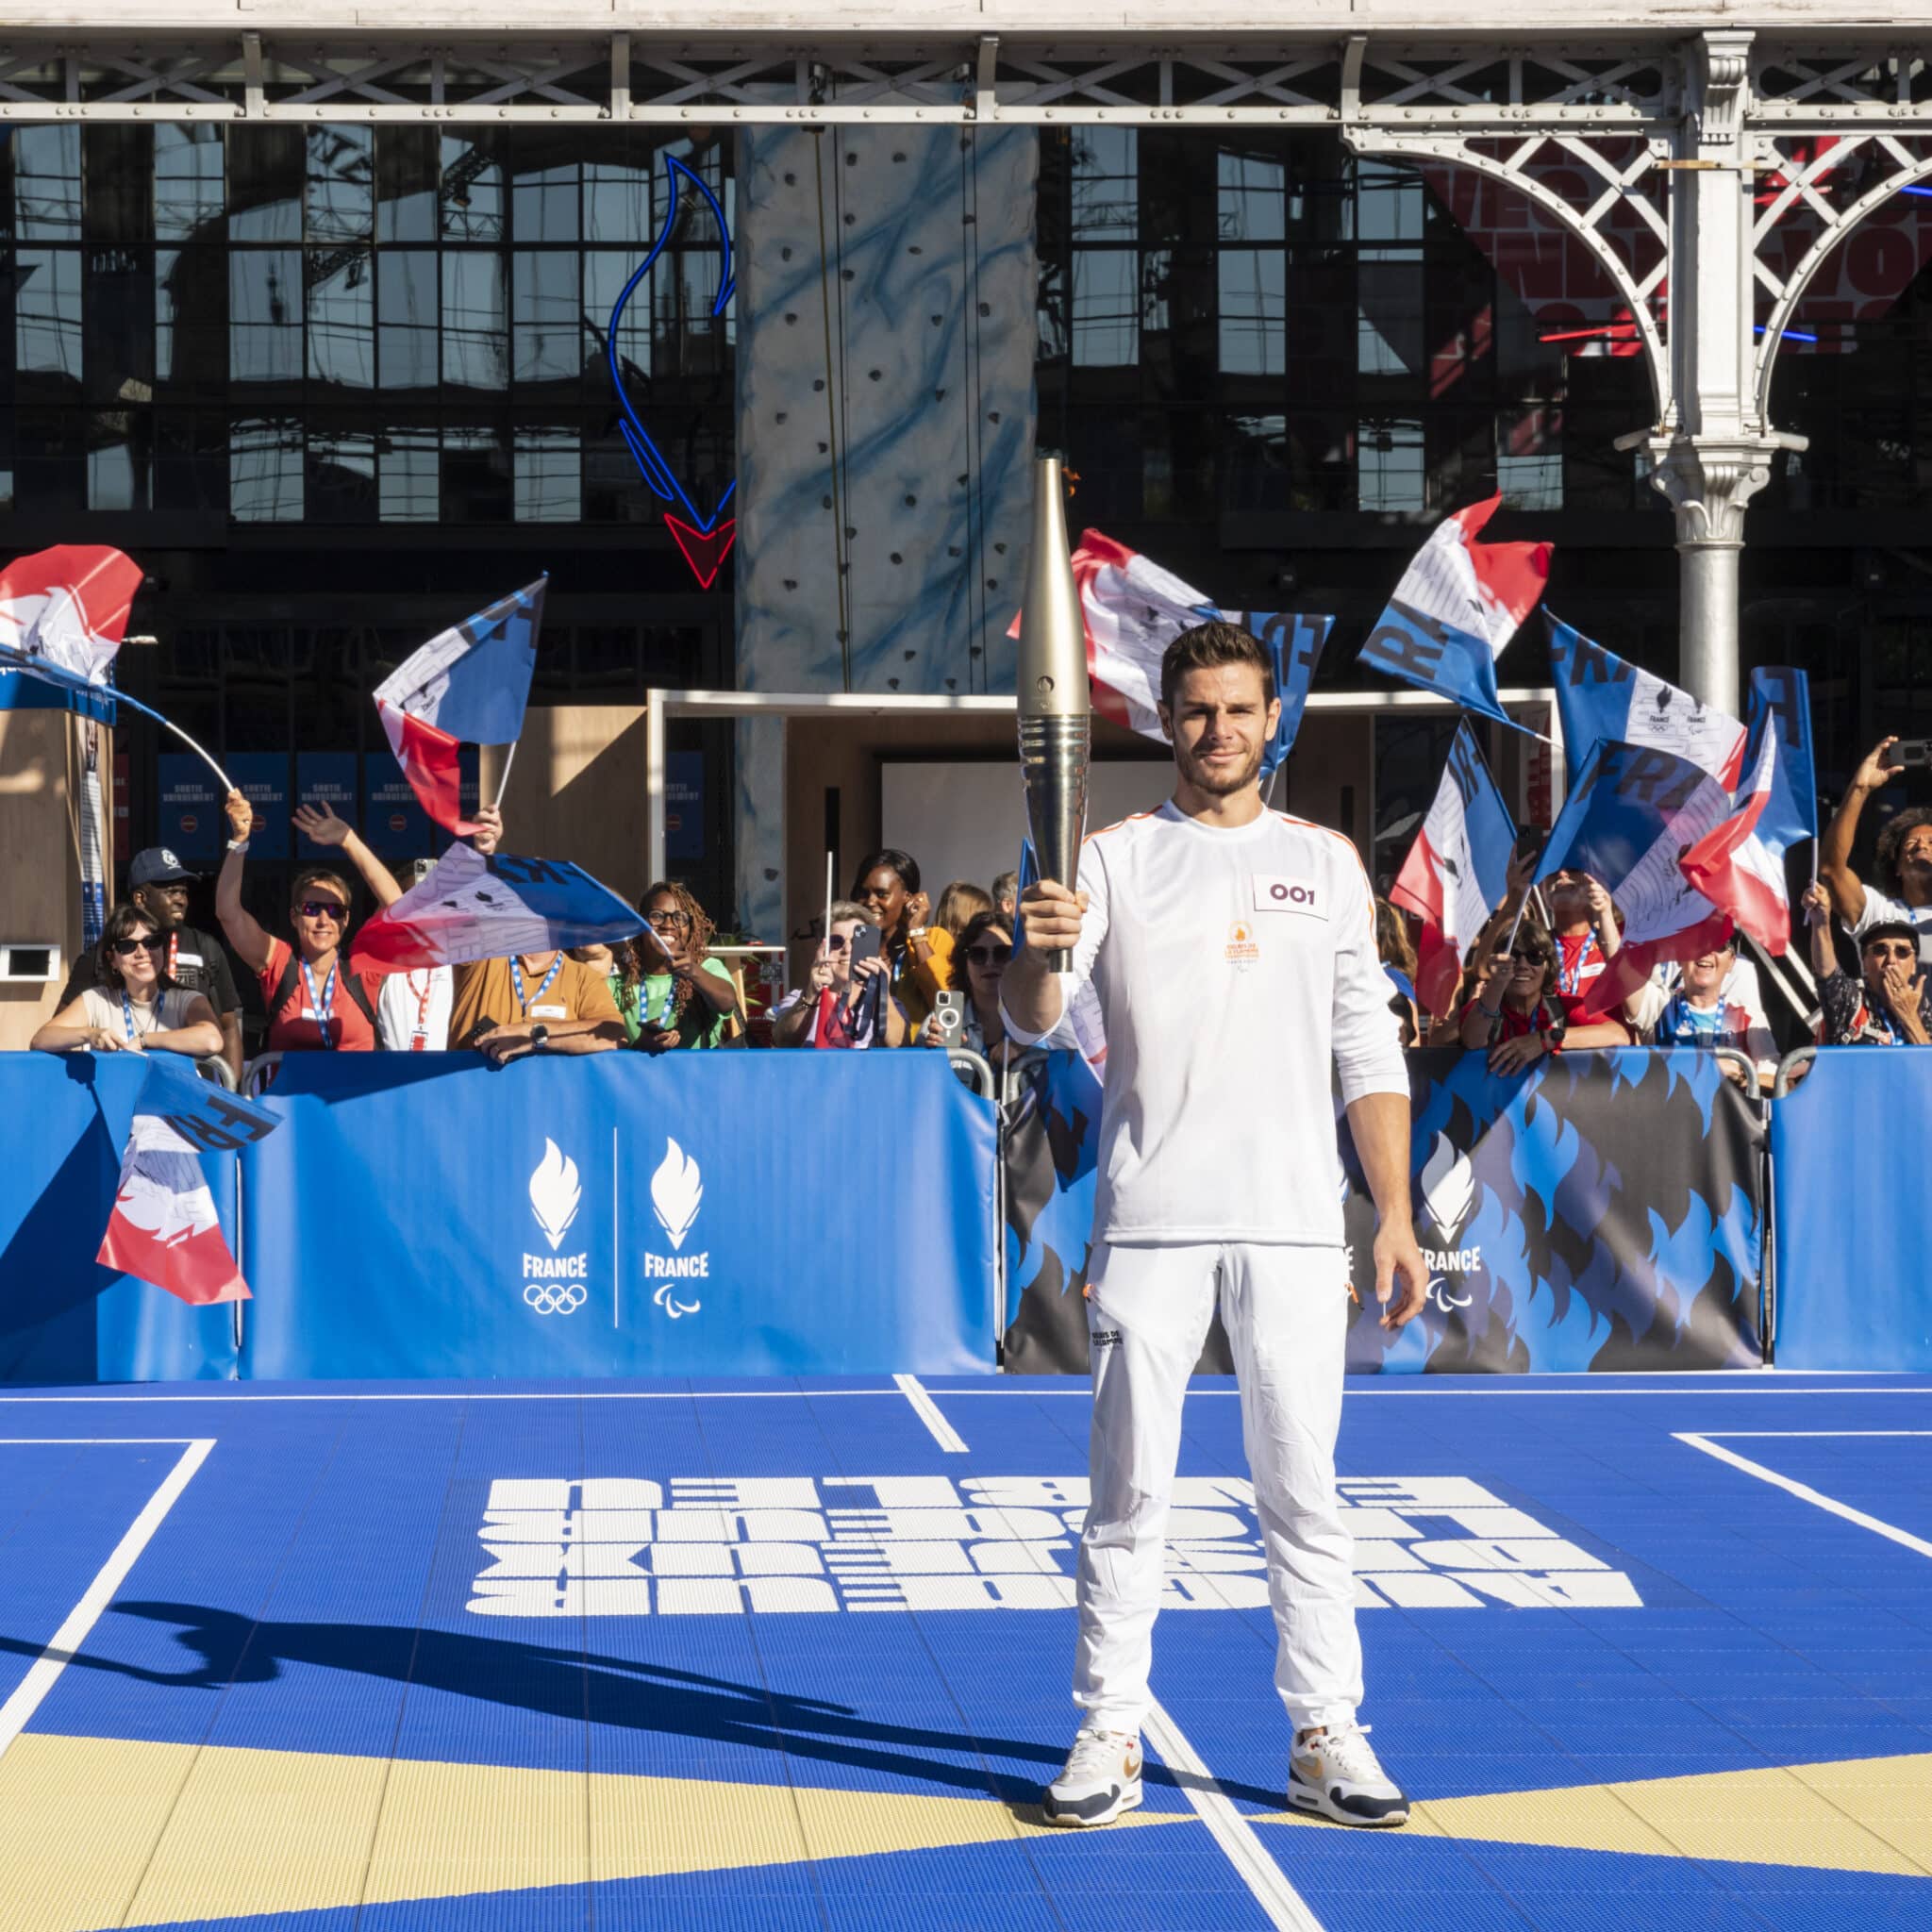
{"label": "highest-flying tricolour flag, red tip at right, right of man's head", "polygon": [[1362,663],[1515,724],[1495,696],[1495,661],[1544,595],[1551,547],[1478,543],[1501,502],[1472,502],[1435,526],[1368,634]]}

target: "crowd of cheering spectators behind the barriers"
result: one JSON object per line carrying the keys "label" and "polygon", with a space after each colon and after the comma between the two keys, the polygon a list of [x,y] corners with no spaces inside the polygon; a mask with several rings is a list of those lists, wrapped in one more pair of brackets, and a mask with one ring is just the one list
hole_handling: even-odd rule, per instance
{"label": "crowd of cheering spectators behind the barriers", "polygon": [[[1861,815],[1903,769],[1897,740],[1859,765],[1820,840],[1818,881],[1803,898],[1818,983],[1812,1037],[1830,1045],[1932,1043],[1932,810],[1899,811],[1876,846],[1878,883],[1851,852]],[[954,879],[927,896],[918,862],[896,848],[867,852],[800,985],[769,1003],[715,956],[717,931],[690,889],[655,881],[638,900],[639,931],[614,945],[357,974],[350,966],[354,885],[377,908],[427,875],[427,860],[390,871],[325,806],[296,811],[296,829],[340,854],[344,867],[294,873],[286,929],[269,931],[242,900],[255,817],[226,802],[230,840],[214,881],[222,937],[189,923],[195,873],[162,848],[135,854],[128,902],[97,949],[75,960],[60,1007],[33,1037],[50,1053],[147,1051],[242,1061],[242,999],[230,954],[261,991],[267,1055],[301,1051],[473,1049],[495,1065],[531,1053],[632,1049],[668,1053],[740,1045],[869,1049],[962,1045],[1012,1070],[1041,1049],[1005,1036],[999,983],[1016,937],[1018,875],[989,887]],[[473,842],[495,852],[502,819],[483,808]],[[1733,1047],[1770,1068],[1776,1041],[1756,970],[1723,945],[1658,968],[1627,997],[1596,999],[1623,945],[1623,922],[1586,873],[1538,877],[1534,838],[1511,858],[1507,887],[1468,947],[1453,997],[1430,1010],[1410,916],[1376,902],[1376,943],[1389,978],[1391,1024],[1405,1045],[1463,1045],[1497,1074],[1524,1072],[1549,1053],[1611,1045]],[[1833,916],[1857,951],[1847,970]],[[224,945],[226,941],[226,945]],[[777,989],[773,989],[777,991]],[[1604,1010],[1594,1010],[1604,1009]],[[1733,1078],[1743,1070],[1731,1065]]]}

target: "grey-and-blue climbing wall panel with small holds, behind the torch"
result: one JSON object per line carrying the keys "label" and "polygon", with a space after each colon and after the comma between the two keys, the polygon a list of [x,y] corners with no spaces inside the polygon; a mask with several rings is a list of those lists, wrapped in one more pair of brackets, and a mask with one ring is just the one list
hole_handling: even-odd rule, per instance
{"label": "grey-and-blue climbing wall panel with small holds, behind the torch", "polygon": [[[738,682],[1010,692],[1034,448],[1028,129],[738,137]],[[740,916],[782,771],[740,728]]]}

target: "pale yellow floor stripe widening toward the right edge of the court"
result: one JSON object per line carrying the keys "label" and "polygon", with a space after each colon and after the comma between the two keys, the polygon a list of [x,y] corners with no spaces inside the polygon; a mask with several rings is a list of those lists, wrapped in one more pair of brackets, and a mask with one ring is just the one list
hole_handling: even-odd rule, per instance
{"label": "pale yellow floor stripe widening toward the right edge of the court", "polygon": [[[1312,1820],[1275,1812],[1260,1822]],[[1430,1799],[1410,1812],[1416,1828],[1499,1845],[1932,1878],[1932,1754]]]}

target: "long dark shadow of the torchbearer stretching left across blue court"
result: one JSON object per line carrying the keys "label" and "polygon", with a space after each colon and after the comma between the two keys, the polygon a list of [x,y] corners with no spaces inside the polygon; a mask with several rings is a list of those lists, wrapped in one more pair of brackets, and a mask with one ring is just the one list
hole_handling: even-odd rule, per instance
{"label": "long dark shadow of the torchbearer stretching left across blue court", "polygon": [[[1041,1745],[877,1723],[848,1704],[825,1698],[765,1690],[759,1685],[703,1677],[634,1658],[605,1658],[502,1636],[412,1631],[386,1623],[257,1623],[199,1604],[129,1602],[116,1604],[112,1613],[176,1625],[176,1642],[199,1656],[199,1665],[185,1671],[153,1671],[139,1663],[81,1652],[71,1660],[75,1667],[184,1690],[274,1683],[284,1663],[352,1671],[549,1718],[589,1718],[591,1723],[630,1731],[657,1731],[752,1750],[782,1750],[788,1758],[885,1772],[958,1791],[989,1791],[1020,1816],[1037,1818],[1039,1785],[1047,1774],[1059,1770],[1066,1748],[1065,1741]],[[39,1656],[41,1646],[0,1636],[0,1652]],[[1014,1777],[985,1764],[958,1764],[933,1752],[1007,1760],[1039,1770]],[[1151,1758],[1146,1779],[1169,1789],[1200,1783]],[[1225,1783],[1221,1789],[1233,1799],[1264,1804],[1269,1810],[1281,1806],[1279,1791],[1236,1783]]]}

